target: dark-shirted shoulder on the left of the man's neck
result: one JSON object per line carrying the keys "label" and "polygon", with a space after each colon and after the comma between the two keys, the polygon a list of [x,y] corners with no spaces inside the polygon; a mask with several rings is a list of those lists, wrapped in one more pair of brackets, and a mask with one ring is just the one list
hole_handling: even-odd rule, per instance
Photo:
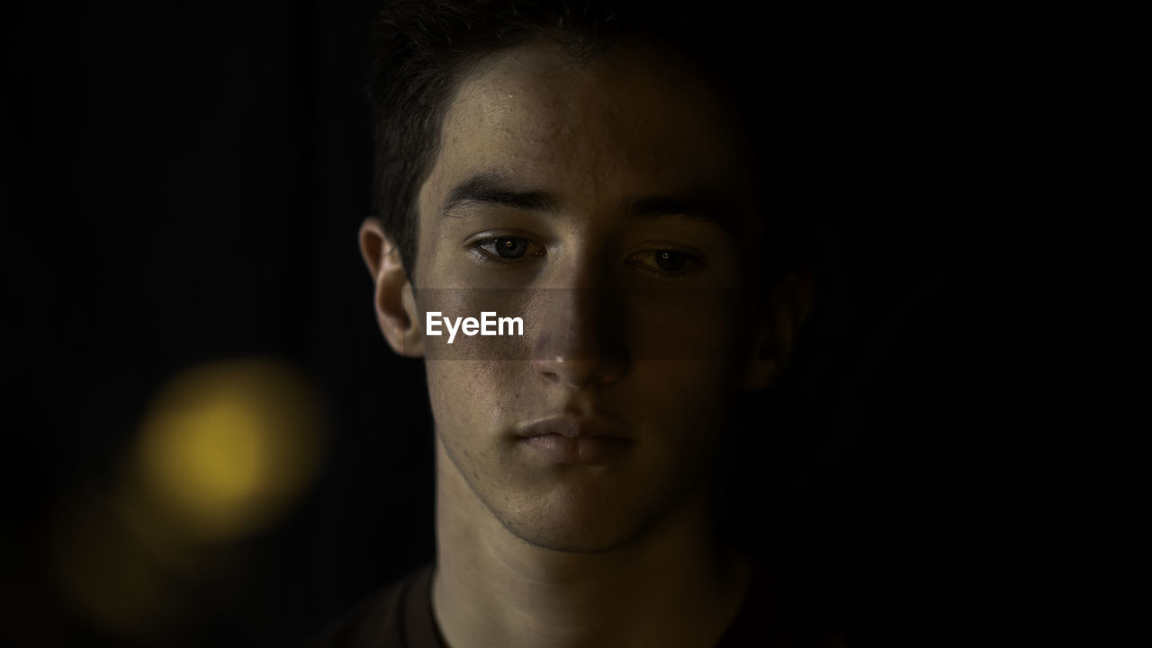
{"label": "dark-shirted shoulder on the left of the man's neck", "polygon": [[444,648],[432,616],[432,565],[373,593],[308,648]]}

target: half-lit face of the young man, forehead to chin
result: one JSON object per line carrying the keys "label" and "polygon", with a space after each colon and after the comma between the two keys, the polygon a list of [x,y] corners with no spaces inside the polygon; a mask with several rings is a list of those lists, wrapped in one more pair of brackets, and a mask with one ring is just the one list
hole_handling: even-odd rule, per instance
{"label": "half-lit face of the young man, forehead to chin", "polygon": [[[418,197],[416,318],[450,466],[537,546],[601,551],[706,482],[757,353],[749,151],[727,98],[666,53],[521,47],[465,78]],[[441,327],[444,328],[444,327]]]}

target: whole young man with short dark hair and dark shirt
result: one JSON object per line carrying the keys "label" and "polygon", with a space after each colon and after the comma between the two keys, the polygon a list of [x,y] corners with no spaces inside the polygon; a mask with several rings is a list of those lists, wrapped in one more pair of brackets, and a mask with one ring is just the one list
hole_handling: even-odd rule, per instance
{"label": "whole young man with short dark hair and dark shirt", "polygon": [[[326,645],[798,640],[710,512],[736,395],[779,375],[811,298],[782,262],[798,215],[765,183],[783,165],[764,134],[789,124],[736,77],[789,98],[699,28],[588,2],[385,9],[359,243],[385,338],[426,361],[438,552]],[[478,334],[485,312],[509,326]]]}

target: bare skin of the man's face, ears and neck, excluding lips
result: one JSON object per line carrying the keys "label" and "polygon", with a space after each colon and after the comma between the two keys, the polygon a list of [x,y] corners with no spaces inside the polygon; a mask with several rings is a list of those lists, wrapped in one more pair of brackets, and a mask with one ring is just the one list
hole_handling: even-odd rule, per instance
{"label": "bare skin of the man's face, ears and neck, excluding lips", "polygon": [[[577,63],[518,47],[464,78],[446,114],[415,290],[379,221],[362,227],[381,330],[426,358],[433,609],[454,648],[705,647],[738,611],[750,563],[713,535],[712,457],[735,394],[783,366],[811,292],[789,275],[763,297],[738,123],[659,49]],[[477,177],[533,200],[453,203]],[[495,310],[526,330],[449,346],[424,334],[430,310]],[[627,447],[558,463],[520,436],[550,417],[599,421]]]}

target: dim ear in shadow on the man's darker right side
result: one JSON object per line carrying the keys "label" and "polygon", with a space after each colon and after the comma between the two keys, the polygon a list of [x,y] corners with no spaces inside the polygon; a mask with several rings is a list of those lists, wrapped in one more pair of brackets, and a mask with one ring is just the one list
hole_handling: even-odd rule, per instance
{"label": "dim ear in shadow on the man's darker right side", "polygon": [[789,270],[776,282],[756,321],[756,343],[744,373],[744,389],[764,389],[783,373],[814,295],[816,280],[806,269]]}

